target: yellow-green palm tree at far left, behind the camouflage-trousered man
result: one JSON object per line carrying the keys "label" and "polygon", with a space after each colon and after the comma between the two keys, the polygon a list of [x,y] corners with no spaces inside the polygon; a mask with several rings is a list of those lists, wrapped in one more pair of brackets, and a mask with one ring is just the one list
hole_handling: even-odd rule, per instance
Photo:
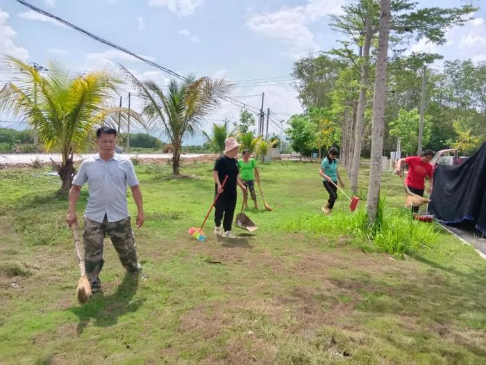
{"label": "yellow-green palm tree at far left, behind the camouflage-trousered man", "polygon": [[[0,110],[36,129],[46,152],[60,152],[60,192],[67,193],[76,172],[73,154],[92,142],[95,127],[115,125],[119,113],[124,120],[128,115],[106,104],[121,80],[108,71],[72,77],[56,63],[49,63],[45,75],[14,57],[6,57],[4,63],[15,76],[0,90]],[[140,122],[136,113],[131,116]]]}

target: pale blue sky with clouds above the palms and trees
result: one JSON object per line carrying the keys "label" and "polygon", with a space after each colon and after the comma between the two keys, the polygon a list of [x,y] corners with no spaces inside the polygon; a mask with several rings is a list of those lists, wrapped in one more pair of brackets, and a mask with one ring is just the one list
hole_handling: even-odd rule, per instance
{"label": "pale blue sky with clouds above the palms and trees", "polygon": [[[234,99],[250,111],[270,108],[270,132],[280,128],[302,108],[292,86],[295,60],[338,46],[344,38],[328,26],[329,15],[342,13],[350,0],[30,0],[43,10],[119,44],[179,74],[226,77],[235,83]],[[437,1],[417,0],[419,7]],[[468,3],[483,6],[484,0]],[[442,0],[453,7],[462,0]],[[447,32],[447,42],[435,45],[413,41],[407,52],[430,51],[444,60],[486,60],[486,10],[481,8],[463,27]],[[0,0],[0,54],[46,66],[54,60],[72,72],[126,66],[141,79],[165,85],[169,75],[38,15],[15,0]],[[443,61],[433,67],[440,68]],[[1,80],[8,75],[0,74]],[[255,80],[257,79],[257,80]],[[127,106],[130,86],[121,90]],[[235,105],[236,104],[236,105]],[[132,98],[131,106],[140,110]],[[237,120],[242,104],[222,104],[208,117],[205,129],[225,118]],[[16,127],[15,120],[0,115],[0,127]],[[185,140],[203,143],[202,136]]]}

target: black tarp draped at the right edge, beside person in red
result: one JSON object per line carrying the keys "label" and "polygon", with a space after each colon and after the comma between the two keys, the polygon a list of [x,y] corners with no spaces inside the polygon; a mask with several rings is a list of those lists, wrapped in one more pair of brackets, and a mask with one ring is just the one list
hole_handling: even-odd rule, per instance
{"label": "black tarp draped at the right edge, beside person in red", "polygon": [[438,165],[429,210],[446,224],[472,220],[486,234],[486,143],[461,165]]}

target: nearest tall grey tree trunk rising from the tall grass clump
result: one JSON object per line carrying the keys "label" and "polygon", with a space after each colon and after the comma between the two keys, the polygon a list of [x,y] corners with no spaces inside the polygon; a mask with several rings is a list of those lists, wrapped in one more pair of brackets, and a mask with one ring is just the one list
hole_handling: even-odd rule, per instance
{"label": "nearest tall grey tree trunk rising from the tall grass clump", "polygon": [[381,162],[383,154],[383,129],[385,127],[385,85],[387,78],[387,55],[390,23],[390,0],[381,0],[380,30],[376,79],[373,94],[373,122],[371,125],[371,171],[369,174],[366,209],[370,222],[376,220],[380,198]]}

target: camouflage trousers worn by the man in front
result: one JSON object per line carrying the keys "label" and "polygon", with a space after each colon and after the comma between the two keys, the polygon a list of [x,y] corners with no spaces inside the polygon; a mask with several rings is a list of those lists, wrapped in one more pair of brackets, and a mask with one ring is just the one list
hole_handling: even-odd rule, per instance
{"label": "camouflage trousers worn by the man in front", "polygon": [[106,234],[111,239],[121,264],[130,273],[141,270],[137,262],[137,245],[130,223],[130,217],[117,222],[108,222],[106,216],[102,223],[84,218],[83,241],[85,246],[86,275],[90,280],[92,290],[101,287],[99,273],[103,268],[103,239]]}

